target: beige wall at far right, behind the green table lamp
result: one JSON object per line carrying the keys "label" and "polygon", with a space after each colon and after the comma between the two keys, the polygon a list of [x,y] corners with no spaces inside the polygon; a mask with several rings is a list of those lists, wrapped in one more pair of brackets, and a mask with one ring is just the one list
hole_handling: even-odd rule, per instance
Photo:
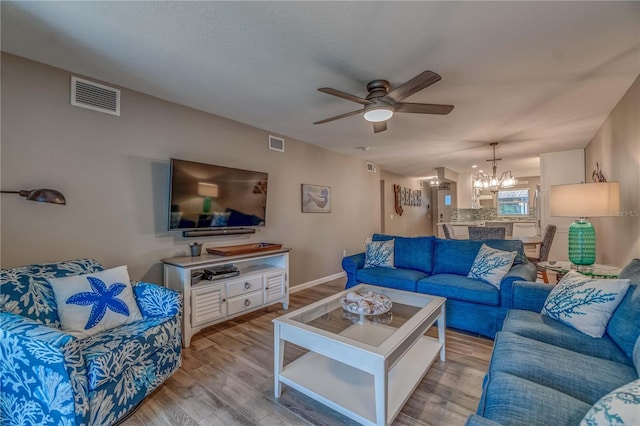
{"label": "beige wall at far right, behind the green table lamp", "polygon": [[593,218],[596,261],[624,266],[640,258],[640,77],[631,85],[585,151],[585,181],[596,168],[620,182],[620,217]]}

